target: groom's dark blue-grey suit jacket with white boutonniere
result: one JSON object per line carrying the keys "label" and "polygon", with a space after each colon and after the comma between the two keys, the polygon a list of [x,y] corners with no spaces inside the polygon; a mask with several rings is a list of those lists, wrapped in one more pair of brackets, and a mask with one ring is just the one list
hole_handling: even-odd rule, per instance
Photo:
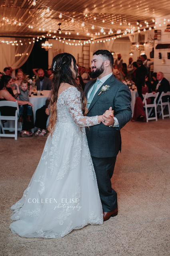
{"label": "groom's dark blue-grey suit jacket with white boutonniere", "polygon": [[[86,84],[84,93],[87,95],[90,87],[96,82],[91,80]],[[109,90],[101,92],[104,85],[109,85]],[[102,115],[112,107],[114,116],[118,119],[119,127],[108,127],[102,124],[90,126],[86,129],[90,153],[94,157],[106,158],[117,156],[121,150],[120,129],[130,121],[132,111],[130,107],[131,93],[127,85],[117,80],[114,75],[110,76],[96,92],[88,109],[88,116]]]}

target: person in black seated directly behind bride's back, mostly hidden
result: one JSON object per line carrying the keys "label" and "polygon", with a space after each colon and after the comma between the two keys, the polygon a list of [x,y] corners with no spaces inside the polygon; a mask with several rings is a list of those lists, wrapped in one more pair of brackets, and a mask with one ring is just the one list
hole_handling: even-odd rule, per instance
{"label": "person in black seated directly behind bride's back, mostly hidden", "polygon": [[51,97],[51,91],[48,95],[48,98],[46,99],[46,104],[39,108],[36,111],[36,121],[35,121],[35,127],[38,128],[38,130],[35,133],[35,136],[44,136],[46,134],[46,123],[48,116],[50,114],[48,105],[50,103],[50,97]]}

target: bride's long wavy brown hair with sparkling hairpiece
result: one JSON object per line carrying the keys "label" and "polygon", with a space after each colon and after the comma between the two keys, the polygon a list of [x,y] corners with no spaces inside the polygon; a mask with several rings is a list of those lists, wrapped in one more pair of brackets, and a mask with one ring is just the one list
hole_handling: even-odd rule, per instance
{"label": "bride's long wavy brown hair with sparkling hairpiece", "polygon": [[68,83],[79,90],[81,94],[80,100],[82,105],[82,112],[84,116],[86,116],[86,114],[88,113],[88,109],[86,108],[86,105],[87,105],[86,97],[84,95],[82,88],[78,85],[75,75],[71,70],[72,60],[74,63],[74,70],[76,72],[76,78],[77,78],[78,69],[76,67],[76,60],[74,56],[64,52],[56,55],[52,60],[52,70],[54,72],[54,76],[52,78],[52,93],[51,93],[51,100],[50,100],[51,116],[50,116],[50,121],[48,126],[48,131],[50,132],[51,135],[54,132],[54,127],[57,119],[56,102],[58,98],[58,90],[61,83]]}

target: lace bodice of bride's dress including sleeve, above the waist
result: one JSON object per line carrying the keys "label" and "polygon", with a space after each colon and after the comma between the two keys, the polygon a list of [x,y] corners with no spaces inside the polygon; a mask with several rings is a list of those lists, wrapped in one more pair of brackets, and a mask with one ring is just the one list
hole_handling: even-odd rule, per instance
{"label": "lace bodice of bride's dress including sleeve, above the waist", "polygon": [[57,123],[73,122],[78,126],[92,126],[100,124],[98,116],[83,116],[80,92],[70,86],[60,93],[57,100]]}

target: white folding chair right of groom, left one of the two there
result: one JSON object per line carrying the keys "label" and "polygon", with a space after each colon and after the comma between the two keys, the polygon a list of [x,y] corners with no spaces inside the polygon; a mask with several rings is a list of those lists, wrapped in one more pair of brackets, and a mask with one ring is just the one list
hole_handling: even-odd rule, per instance
{"label": "white folding chair right of groom, left one of the two there", "polygon": [[[146,122],[148,122],[148,120],[156,120],[158,121],[158,117],[157,117],[157,112],[156,112],[156,99],[158,98],[159,92],[157,93],[146,93],[143,99],[143,104],[144,104],[144,108],[145,108],[145,112],[146,112]],[[147,104],[147,99],[154,97],[154,103],[153,104]],[[154,109],[155,111],[155,116],[154,117],[149,117],[152,110]]]}

